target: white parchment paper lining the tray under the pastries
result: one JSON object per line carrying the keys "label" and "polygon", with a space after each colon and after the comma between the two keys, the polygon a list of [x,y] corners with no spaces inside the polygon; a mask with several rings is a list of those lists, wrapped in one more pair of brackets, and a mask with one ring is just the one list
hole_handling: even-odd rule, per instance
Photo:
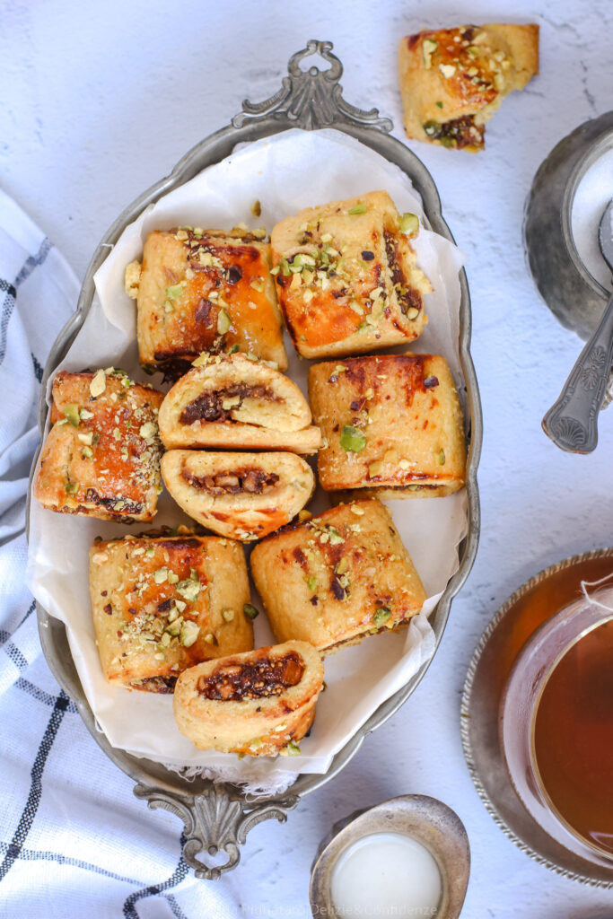
{"label": "white parchment paper lining the tray under the pastries", "polygon": [[[292,130],[237,150],[186,185],[148,208],[122,233],[96,274],[96,296],[61,368],[80,370],[116,366],[146,380],[138,366],[135,306],[123,288],[125,266],[142,254],[154,229],[178,224],[229,229],[244,221],[251,227],[273,225],[301,208],[385,189],[398,210],[423,216],[418,196],[403,172],[378,153],[335,130]],[[251,206],[261,201],[254,218]],[[458,352],[460,284],[459,250],[422,230],[416,241],[420,267],[432,281],[426,296],[429,323],[413,350],[442,354],[461,392]],[[306,391],[308,361],[299,360],[286,336],[289,376]],[[155,377],[154,380],[159,380]],[[312,509],[330,504],[318,494]],[[311,735],[292,757],[238,760],[233,754],[199,752],[176,728],[172,697],[127,692],[105,681],[96,651],[88,588],[88,550],[96,536],[110,539],[137,533],[115,523],[63,516],[33,502],[30,511],[28,584],[52,616],[62,619],[85,696],[109,743],[147,756],[187,774],[246,783],[251,790],[278,791],[301,772],[323,773],[334,754],[358,727],[416,673],[434,652],[434,632],[427,621],[448,579],[458,569],[460,540],[468,528],[465,490],[447,498],[388,502],[395,524],[426,587],[428,599],[408,629],[380,635],[325,658],[327,688],[317,703]],[[161,495],[155,528],[188,522],[167,494]],[[257,599],[254,597],[255,605]],[[271,643],[264,615],[255,620],[255,646]]]}

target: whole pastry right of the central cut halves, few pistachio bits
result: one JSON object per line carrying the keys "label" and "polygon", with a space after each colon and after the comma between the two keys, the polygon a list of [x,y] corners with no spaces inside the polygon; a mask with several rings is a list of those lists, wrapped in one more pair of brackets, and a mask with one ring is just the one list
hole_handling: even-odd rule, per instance
{"label": "whole pastry right of the central cut halves, few pistachio bits", "polygon": [[436,497],[466,482],[460,400],[444,357],[347,357],[314,364],[309,400],[322,429],[327,491]]}

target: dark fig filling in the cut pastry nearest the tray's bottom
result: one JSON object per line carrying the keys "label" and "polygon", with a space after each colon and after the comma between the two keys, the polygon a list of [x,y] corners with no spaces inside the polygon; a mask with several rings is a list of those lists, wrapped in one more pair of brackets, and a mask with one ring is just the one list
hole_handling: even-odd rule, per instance
{"label": "dark fig filling in the cut pastry nearest the tray's bottom", "polygon": [[198,692],[204,698],[222,702],[280,696],[289,686],[300,683],[304,669],[304,662],[296,652],[273,660],[261,657],[253,664],[226,664],[210,676],[201,676]]}

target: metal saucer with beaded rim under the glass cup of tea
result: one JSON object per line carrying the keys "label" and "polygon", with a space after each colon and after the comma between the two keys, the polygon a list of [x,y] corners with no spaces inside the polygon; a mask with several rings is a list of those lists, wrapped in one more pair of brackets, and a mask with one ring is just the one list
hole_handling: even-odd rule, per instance
{"label": "metal saucer with beaded rim under the glass cup of tea", "polygon": [[466,676],[460,731],[472,781],[503,833],[551,871],[593,887],[613,889],[613,867],[576,856],[545,833],[524,807],[506,771],[499,711],[517,654],[545,619],[581,596],[580,582],[613,570],[613,548],[574,555],[537,574],[509,596],[483,632]]}

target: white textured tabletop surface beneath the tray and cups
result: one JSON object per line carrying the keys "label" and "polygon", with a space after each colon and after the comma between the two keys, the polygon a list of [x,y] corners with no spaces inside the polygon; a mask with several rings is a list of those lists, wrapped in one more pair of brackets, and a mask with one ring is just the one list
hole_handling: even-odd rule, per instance
{"label": "white textured tabletop surface beneath the tray and cups", "polygon": [[[542,434],[540,418],[580,342],[540,301],[521,236],[524,201],[542,159],[563,135],[610,108],[613,6],[610,0],[0,3],[0,185],[79,276],[119,211],[225,125],[244,96],[259,101],[275,92],[289,55],[306,40],[334,41],[345,64],[346,99],[392,116],[401,137],[400,36],[509,18],[539,22],[541,74],[505,100],[487,129],[486,152],[475,157],[410,144],[434,176],[444,215],[469,256],[472,354],[485,428],[477,562],[414,697],[286,825],[256,827],[237,870],[214,888],[194,885],[190,915],[307,914],[312,857],[331,823],[409,792],[446,801],[466,824],[472,872],[463,916],[613,913],[613,893],[558,878],[496,828],[472,787],[459,730],[466,668],[495,609],[546,565],[613,541],[613,409],[601,418],[590,457],[564,455]],[[322,167],[313,167],[314,198]],[[130,785],[119,772],[117,782]],[[161,814],[159,825],[178,829]],[[109,817],[99,828],[106,844],[113,831]]]}

